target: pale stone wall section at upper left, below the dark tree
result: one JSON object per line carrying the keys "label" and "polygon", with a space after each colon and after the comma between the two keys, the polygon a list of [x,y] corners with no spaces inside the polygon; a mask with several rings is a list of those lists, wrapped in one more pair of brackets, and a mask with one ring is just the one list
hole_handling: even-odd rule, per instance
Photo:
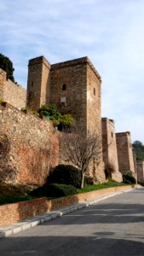
{"label": "pale stone wall section at upper left, below the dark tree", "polygon": [[0,68],[0,98],[15,108],[26,107],[26,89],[6,79],[6,73]]}

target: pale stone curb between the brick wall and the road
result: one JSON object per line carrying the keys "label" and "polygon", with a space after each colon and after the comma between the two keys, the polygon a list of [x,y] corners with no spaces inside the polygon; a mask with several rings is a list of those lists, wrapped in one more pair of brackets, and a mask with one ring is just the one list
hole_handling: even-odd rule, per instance
{"label": "pale stone curb between the brick wall and the road", "polygon": [[112,197],[114,195],[120,195],[120,194],[123,194],[125,192],[130,192],[131,190],[133,190],[133,189],[123,190],[123,191],[120,191],[120,192],[115,192],[115,193],[110,194],[110,195],[103,195],[98,199],[84,201],[84,202],[78,203],[76,205],[72,205],[70,207],[61,208],[57,211],[46,212],[46,213],[37,215],[37,216],[32,217],[32,218],[26,218],[26,219],[24,219],[20,222],[15,223],[15,224],[11,224],[7,227],[0,228],[0,238],[4,238],[4,237],[14,235],[16,233],[19,233],[22,230],[29,230],[32,227],[37,226],[38,224],[43,224],[43,223],[48,222],[49,220],[52,220],[54,218],[58,218],[58,217],[61,217],[63,215],[66,215],[67,213],[83,209],[84,207],[89,207],[90,205],[92,205],[96,202],[106,200],[107,198]]}

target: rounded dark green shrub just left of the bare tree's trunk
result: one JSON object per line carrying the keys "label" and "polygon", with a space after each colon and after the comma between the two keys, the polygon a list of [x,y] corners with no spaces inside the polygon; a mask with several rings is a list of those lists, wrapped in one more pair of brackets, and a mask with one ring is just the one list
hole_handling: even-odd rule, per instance
{"label": "rounded dark green shrub just left of the bare tree's trunk", "polygon": [[59,183],[81,187],[82,174],[78,168],[69,165],[56,166],[49,174],[48,183]]}

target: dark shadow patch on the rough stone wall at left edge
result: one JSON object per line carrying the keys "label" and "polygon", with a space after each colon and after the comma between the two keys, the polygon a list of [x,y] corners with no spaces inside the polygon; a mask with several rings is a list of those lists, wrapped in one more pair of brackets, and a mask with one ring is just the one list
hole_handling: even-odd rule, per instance
{"label": "dark shadow patch on the rough stone wall at left edge", "polygon": [[9,155],[10,142],[6,134],[0,135],[0,182],[14,183],[18,174],[15,166],[10,166],[13,157]]}

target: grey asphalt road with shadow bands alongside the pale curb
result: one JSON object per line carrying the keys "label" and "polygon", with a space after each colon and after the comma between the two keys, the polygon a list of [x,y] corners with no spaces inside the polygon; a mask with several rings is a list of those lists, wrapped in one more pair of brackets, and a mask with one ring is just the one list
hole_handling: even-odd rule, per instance
{"label": "grey asphalt road with shadow bands alongside the pale curb", "polygon": [[0,256],[144,255],[144,189],[0,240]]}

